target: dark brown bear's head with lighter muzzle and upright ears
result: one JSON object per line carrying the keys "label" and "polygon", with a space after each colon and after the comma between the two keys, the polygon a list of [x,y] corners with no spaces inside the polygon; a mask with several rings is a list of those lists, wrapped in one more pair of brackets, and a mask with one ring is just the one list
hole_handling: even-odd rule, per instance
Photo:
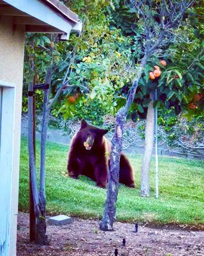
{"label": "dark brown bear's head with lighter muzzle and upright ears", "polygon": [[84,119],[81,122],[80,130],[78,131],[77,138],[82,143],[81,147],[86,150],[98,148],[103,144],[103,135],[108,132],[106,129],[99,129],[93,125],[89,125]]}

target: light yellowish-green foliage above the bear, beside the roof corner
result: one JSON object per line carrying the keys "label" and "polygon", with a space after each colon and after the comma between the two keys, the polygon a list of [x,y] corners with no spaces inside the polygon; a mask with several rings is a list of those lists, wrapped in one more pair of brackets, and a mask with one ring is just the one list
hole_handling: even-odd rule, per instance
{"label": "light yellowish-green foliage above the bear, beside the roof corner", "polygon": [[[68,83],[57,104],[52,109],[54,115],[59,113],[67,118],[81,118],[82,113],[92,119],[98,109],[101,113],[114,115],[117,109],[117,95],[124,83],[130,81],[132,71],[126,71],[126,62],[131,56],[129,50],[129,38],[121,35],[120,30],[110,26],[110,15],[107,14],[109,1],[66,1],[68,7],[80,14],[84,23],[82,35],[77,37],[71,35],[69,42],[57,42],[54,47],[52,61],[54,73],[52,75],[51,95],[61,86],[64,76],[70,66]],[[31,45],[31,41],[34,45]],[[36,83],[43,83],[47,64],[50,63],[49,49],[52,40],[47,35],[28,35],[25,58],[25,86],[23,109],[27,110],[26,91],[27,83],[30,81],[30,59],[31,53],[35,56]],[[123,74],[123,76],[121,76]],[[76,104],[68,102],[69,96],[79,97]],[[36,102],[41,105],[41,97],[37,96]],[[98,100],[98,103],[96,101]],[[113,104],[112,104],[113,102]],[[95,109],[95,113],[87,111]],[[37,106],[38,108],[38,106]],[[80,109],[81,108],[81,109]],[[58,113],[57,113],[58,112]],[[98,120],[98,116],[95,116]]]}

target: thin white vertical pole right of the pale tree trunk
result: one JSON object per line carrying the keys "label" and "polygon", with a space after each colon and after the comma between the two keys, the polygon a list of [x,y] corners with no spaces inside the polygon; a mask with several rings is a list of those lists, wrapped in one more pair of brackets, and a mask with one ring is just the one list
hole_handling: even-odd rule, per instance
{"label": "thin white vertical pole right of the pale tree trunk", "polygon": [[[155,98],[157,100],[157,89],[155,90]],[[157,135],[157,117],[158,117],[158,109],[155,108],[155,185],[156,185],[156,198],[159,197],[159,170],[158,170],[158,135]]]}

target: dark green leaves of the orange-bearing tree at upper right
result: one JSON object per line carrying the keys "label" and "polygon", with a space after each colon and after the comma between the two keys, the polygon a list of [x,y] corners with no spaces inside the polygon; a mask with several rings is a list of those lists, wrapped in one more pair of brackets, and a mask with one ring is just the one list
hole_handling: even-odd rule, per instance
{"label": "dark green leaves of the orange-bearing tree at upper right", "polygon": [[[152,1],[149,4],[152,5],[152,16],[149,26],[159,31],[161,20],[158,17],[157,10],[159,9],[157,7],[160,1]],[[198,113],[203,111],[203,100],[196,103],[198,108],[193,109],[193,111],[187,107],[187,103],[193,100],[193,96],[196,93],[203,93],[203,89],[201,89],[203,88],[201,82],[203,77],[201,76],[203,76],[202,68],[204,67],[202,64],[203,54],[201,54],[203,51],[203,23],[201,20],[203,7],[200,7],[199,4],[199,1],[196,1],[194,7],[187,10],[184,15],[182,26],[177,30],[171,31],[172,35],[176,36],[175,43],[169,47],[168,42],[166,42],[166,45],[161,46],[156,54],[150,56],[142,79],[139,81],[134,103],[129,110],[129,117],[132,120],[146,117],[150,95],[154,94],[154,90],[157,87],[158,99],[154,102],[154,107],[169,109],[174,106],[176,115],[184,109],[187,109],[189,116],[198,115]],[[132,58],[135,64],[138,65],[138,61],[142,58],[142,47],[145,44],[145,36],[143,35],[145,34],[146,27],[144,20],[139,19],[140,13],[137,13],[135,8],[129,8],[127,4],[124,4],[124,1],[115,0],[113,5],[113,10],[110,10],[113,13],[112,24],[113,26],[118,26],[123,35],[129,37],[131,41],[130,48],[133,53]],[[147,14],[148,12],[149,6],[145,5],[143,13]],[[156,37],[153,40],[156,40]],[[196,52],[199,52],[199,54],[196,54]],[[167,61],[168,65],[166,68],[159,65],[161,58]],[[191,63],[193,64],[192,66]],[[162,74],[161,78],[151,81],[149,79],[149,72],[154,70],[154,65],[158,65],[161,68]],[[192,68],[192,72],[189,70],[189,66]],[[189,86],[190,78],[193,81],[193,86]],[[125,84],[124,97],[128,94],[129,85]],[[194,92],[189,93],[188,90],[194,90]],[[186,100],[186,103],[184,100]]]}

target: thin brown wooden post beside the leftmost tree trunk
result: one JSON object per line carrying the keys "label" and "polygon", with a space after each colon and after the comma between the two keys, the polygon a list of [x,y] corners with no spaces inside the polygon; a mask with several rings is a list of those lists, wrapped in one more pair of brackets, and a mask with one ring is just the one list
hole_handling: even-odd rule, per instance
{"label": "thin brown wooden post beside the leftmost tree trunk", "polygon": [[[35,76],[33,78],[33,87],[35,86]],[[33,148],[34,148],[34,159],[36,160],[36,96],[33,95]],[[31,185],[31,168],[29,168],[29,198],[30,198],[30,241],[36,240],[36,216],[34,214],[34,202],[33,202],[33,189]]]}

